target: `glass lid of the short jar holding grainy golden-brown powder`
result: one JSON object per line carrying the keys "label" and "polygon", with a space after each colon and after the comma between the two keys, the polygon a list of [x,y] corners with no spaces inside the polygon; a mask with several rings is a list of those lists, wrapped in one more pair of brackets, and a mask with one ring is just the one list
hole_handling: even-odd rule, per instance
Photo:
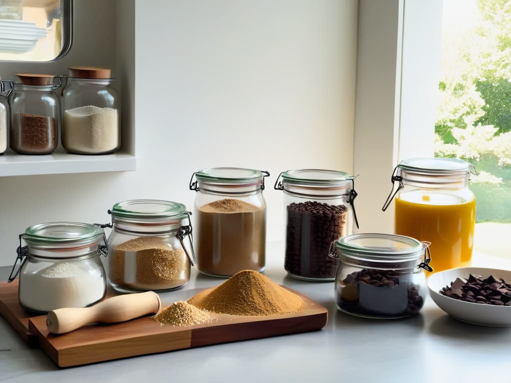
{"label": "glass lid of the short jar holding grainy golden-brown powder", "polygon": [[109,213],[114,217],[159,220],[181,219],[187,211],[182,203],[163,200],[130,200],[113,205]]}

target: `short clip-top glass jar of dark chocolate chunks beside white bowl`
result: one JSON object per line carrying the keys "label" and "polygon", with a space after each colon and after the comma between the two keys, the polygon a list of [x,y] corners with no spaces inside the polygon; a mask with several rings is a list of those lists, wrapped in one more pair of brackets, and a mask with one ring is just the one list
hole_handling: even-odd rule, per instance
{"label": "short clip-top glass jar of dark chocolate chunks beside white bowl", "polygon": [[[335,301],[339,310],[365,318],[405,318],[427,297],[429,242],[393,234],[353,234],[332,243],[339,260]],[[424,258],[423,258],[424,257]]]}

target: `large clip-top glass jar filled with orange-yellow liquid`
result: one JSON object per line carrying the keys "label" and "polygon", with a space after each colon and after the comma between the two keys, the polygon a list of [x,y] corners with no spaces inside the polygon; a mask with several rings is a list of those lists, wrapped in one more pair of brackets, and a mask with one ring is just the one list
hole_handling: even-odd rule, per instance
{"label": "large clip-top glass jar filled with orange-yellow liquid", "polygon": [[392,174],[398,182],[394,232],[431,241],[435,271],[471,265],[476,200],[469,189],[470,162],[455,158],[412,158]]}

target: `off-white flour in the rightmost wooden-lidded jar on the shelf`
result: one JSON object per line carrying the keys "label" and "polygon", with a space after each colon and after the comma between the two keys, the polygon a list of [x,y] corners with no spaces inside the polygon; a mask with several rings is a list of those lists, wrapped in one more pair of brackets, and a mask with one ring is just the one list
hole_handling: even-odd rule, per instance
{"label": "off-white flour in the rightmost wooden-lidded jar on the shelf", "polygon": [[99,154],[119,146],[118,111],[81,106],[64,112],[62,145],[69,152]]}

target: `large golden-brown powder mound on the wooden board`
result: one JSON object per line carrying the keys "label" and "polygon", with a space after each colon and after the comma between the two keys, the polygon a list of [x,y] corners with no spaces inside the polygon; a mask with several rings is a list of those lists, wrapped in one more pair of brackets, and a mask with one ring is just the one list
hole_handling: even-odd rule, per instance
{"label": "large golden-brown powder mound on the wooden board", "polygon": [[252,270],[240,271],[187,302],[213,313],[246,316],[297,313],[303,306],[299,296]]}

